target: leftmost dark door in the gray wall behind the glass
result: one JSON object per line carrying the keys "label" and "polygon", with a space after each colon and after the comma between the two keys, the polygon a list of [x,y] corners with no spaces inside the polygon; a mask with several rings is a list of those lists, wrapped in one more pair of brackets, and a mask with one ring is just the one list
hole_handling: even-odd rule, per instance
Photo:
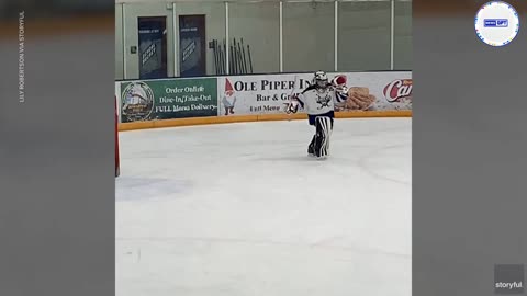
{"label": "leftmost dark door in the gray wall behind the glass", "polygon": [[139,79],[166,78],[167,18],[138,18]]}

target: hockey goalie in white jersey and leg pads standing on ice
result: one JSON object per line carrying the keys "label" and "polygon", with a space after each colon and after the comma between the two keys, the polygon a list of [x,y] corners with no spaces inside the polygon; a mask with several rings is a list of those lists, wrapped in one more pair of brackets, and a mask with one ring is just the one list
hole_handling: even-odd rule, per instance
{"label": "hockey goalie in white jersey and leg pads standing on ice", "polygon": [[285,113],[296,113],[302,107],[307,113],[310,125],[315,127],[315,135],[307,146],[307,155],[325,159],[329,155],[329,140],[335,118],[335,103],[348,99],[346,77],[337,76],[329,82],[324,71],[314,75],[310,87],[293,95],[285,107]]}

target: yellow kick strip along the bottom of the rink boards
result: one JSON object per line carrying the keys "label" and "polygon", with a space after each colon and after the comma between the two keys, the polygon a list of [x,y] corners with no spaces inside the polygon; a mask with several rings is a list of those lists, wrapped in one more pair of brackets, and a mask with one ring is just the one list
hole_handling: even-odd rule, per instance
{"label": "yellow kick strip along the bottom of the rink boards", "polygon": [[[337,118],[367,118],[367,117],[412,117],[412,111],[368,111],[368,112],[337,112]],[[160,127],[176,127],[189,125],[208,125],[208,124],[225,124],[225,123],[245,123],[245,122],[266,122],[266,121],[298,121],[306,119],[306,114],[262,114],[262,115],[237,115],[222,117],[191,117],[178,119],[162,119],[148,122],[134,122],[119,124],[119,130],[136,130]]]}

